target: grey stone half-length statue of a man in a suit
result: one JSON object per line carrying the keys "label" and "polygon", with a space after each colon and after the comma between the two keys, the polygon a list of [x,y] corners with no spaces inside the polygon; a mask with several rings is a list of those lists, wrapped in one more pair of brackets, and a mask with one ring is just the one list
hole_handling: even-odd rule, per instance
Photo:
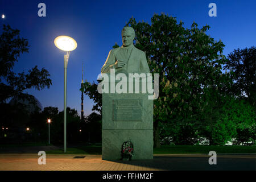
{"label": "grey stone half-length statue of a man in a suit", "polygon": [[112,49],[101,68],[101,73],[110,73],[110,69],[122,73],[150,73],[146,55],[133,45],[135,31],[132,27],[124,27],[122,30],[121,47]]}

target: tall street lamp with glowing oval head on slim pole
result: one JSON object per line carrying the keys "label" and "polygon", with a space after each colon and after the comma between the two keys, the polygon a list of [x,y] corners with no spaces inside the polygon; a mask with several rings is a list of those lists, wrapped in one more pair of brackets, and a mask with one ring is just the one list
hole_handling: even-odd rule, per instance
{"label": "tall street lamp with glowing oval head on slim pole", "polygon": [[67,151],[67,139],[66,139],[66,123],[67,123],[67,67],[70,51],[73,51],[77,47],[76,40],[65,35],[57,36],[54,40],[54,44],[57,48],[67,51],[64,55],[64,152]]}

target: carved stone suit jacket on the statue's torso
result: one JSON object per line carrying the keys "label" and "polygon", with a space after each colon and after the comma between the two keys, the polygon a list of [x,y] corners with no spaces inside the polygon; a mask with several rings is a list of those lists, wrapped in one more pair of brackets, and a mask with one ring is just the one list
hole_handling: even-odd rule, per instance
{"label": "carved stone suit jacket on the statue's torso", "polygon": [[110,73],[110,69],[114,69],[117,60],[127,60],[127,63],[124,67],[115,69],[115,72],[150,73],[145,53],[134,47],[133,44],[129,48],[122,46],[112,49],[101,68],[101,73]]}

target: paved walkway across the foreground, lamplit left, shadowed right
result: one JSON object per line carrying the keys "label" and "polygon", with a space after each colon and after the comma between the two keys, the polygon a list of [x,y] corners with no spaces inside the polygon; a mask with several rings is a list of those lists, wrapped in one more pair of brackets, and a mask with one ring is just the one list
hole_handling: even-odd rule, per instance
{"label": "paved walkway across the foreground, lamplit left, shadowed right", "polygon": [[209,165],[210,156],[154,155],[153,160],[108,161],[101,155],[47,155],[46,165],[39,165],[37,154],[1,154],[0,171],[151,171],[151,170],[256,170],[255,154],[217,154],[217,165]]}

